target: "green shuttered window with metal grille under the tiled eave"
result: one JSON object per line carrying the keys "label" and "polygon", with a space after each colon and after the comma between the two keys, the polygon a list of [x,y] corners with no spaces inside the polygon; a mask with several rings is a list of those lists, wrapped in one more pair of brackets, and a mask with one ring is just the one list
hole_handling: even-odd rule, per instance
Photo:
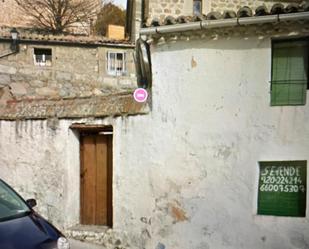
{"label": "green shuttered window with metal grille under the tiled eave", "polygon": [[272,43],[271,105],[305,105],[309,40]]}

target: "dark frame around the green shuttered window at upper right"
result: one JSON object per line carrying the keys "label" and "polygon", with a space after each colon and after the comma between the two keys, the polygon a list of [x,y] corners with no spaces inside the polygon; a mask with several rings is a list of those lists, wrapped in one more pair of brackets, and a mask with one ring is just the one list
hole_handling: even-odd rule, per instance
{"label": "dark frame around the green shuttered window at upper right", "polygon": [[[304,36],[304,37],[294,37],[294,38],[274,38],[271,39],[271,75],[270,75],[270,105],[271,106],[304,106],[306,105],[306,101],[304,104],[272,104],[271,102],[271,97],[272,97],[272,87],[273,87],[273,83],[272,83],[272,77],[273,77],[273,73],[274,73],[274,63],[273,63],[273,59],[274,59],[274,52],[275,52],[275,44],[278,43],[285,43],[285,42],[297,42],[297,41],[306,41],[307,42],[307,48],[308,48],[308,53],[307,53],[307,61],[308,61],[308,65],[307,65],[307,87],[306,89],[309,90],[309,36]],[[306,93],[307,94],[307,93]]]}

